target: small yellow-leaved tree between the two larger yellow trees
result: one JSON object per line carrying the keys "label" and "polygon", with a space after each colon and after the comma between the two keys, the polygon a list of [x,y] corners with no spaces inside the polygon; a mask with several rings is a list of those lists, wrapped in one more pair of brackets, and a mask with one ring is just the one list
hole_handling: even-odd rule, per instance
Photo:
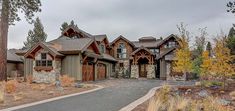
{"label": "small yellow-leaved tree between the two larger yellow trees", "polygon": [[200,79],[204,80],[205,78],[208,78],[208,75],[211,72],[212,68],[212,59],[210,58],[209,51],[203,51],[202,53],[202,64],[200,66]]}

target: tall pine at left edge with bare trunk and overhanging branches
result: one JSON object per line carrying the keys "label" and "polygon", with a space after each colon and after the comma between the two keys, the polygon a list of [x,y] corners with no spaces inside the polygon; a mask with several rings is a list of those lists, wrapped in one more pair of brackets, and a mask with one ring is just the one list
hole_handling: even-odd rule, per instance
{"label": "tall pine at left edge with bare trunk and overhanging branches", "polygon": [[40,0],[0,0],[0,80],[7,80],[7,38],[9,25],[20,21],[18,12],[24,13],[24,17],[32,23],[34,13],[40,12]]}

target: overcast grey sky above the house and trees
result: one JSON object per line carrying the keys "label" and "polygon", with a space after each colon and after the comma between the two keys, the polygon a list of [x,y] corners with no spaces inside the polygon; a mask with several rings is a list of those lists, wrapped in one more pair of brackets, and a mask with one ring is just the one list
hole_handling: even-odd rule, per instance
{"label": "overcast grey sky above the house and trees", "polygon": [[[177,34],[176,25],[188,24],[191,35],[207,27],[208,40],[232,27],[235,14],[226,12],[228,0],[42,0],[38,13],[47,40],[57,38],[63,22],[74,20],[90,34],[107,34],[109,41],[119,35],[130,40]],[[23,17],[23,15],[22,15]],[[23,18],[22,18],[23,19]],[[8,48],[21,48],[33,25],[25,20],[9,28]],[[193,40],[193,39],[192,39]]]}

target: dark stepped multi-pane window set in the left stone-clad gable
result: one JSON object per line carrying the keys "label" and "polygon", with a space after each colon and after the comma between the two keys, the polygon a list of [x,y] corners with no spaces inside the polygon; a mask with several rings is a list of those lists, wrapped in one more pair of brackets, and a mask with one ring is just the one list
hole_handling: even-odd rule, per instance
{"label": "dark stepped multi-pane window set in the left stone-clad gable", "polygon": [[47,53],[41,53],[41,59],[36,60],[36,66],[52,66],[52,60],[47,58]]}

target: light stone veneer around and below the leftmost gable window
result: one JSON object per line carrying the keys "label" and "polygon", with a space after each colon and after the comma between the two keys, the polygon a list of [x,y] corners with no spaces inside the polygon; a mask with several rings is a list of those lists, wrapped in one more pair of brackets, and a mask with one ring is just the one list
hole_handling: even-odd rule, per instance
{"label": "light stone veneer around and below the leftmost gable window", "polygon": [[[33,67],[35,67],[36,63],[33,62]],[[52,63],[53,70],[51,71],[36,71],[33,69],[33,79],[36,83],[53,83],[56,79],[59,78],[61,73],[61,61],[54,60]]]}

